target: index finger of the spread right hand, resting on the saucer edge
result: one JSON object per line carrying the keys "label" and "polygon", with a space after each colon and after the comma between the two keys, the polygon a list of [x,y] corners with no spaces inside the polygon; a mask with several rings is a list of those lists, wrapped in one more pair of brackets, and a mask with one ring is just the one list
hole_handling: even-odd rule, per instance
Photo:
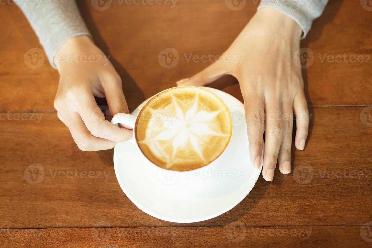
{"label": "index finger of the spread right hand, resting on the saucer edge", "polygon": [[246,96],[244,98],[244,107],[246,109],[248,149],[251,164],[253,167],[260,168],[265,120],[263,97],[257,95]]}

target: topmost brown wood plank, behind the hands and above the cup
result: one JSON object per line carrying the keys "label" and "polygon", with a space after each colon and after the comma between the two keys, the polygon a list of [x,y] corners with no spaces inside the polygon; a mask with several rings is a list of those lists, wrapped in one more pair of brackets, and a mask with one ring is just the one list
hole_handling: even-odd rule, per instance
{"label": "topmost brown wood plank, behind the hands and above the cup", "polygon": [[[113,1],[105,11],[92,7],[89,0],[78,1],[96,44],[108,55],[123,79],[129,109],[174,82],[205,68],[208,63],[187,62],[184,54],[220,55],[256,12],[255,1],[247,1],[240,11],[230,10],[224,0],[179,0],[168,5],[119,5]],[[358,1],[331,0],[323,16],[314,21],[301,47],[314,55],[304,70],[305,90],[310,105],[371,104],[371,63],[321,62],[324,54],[333,57],[372,54],[371,13]],[[31,69],[23,62],[28,49],[41,47],[22,12],[14,4],[1,6],[0,111],[54,110],[58,73],[48,62]],[[10,42],[11,41],[11,42]],[[179,64],[165,69],[158,54],[174,47]],[[321,56],[319,57],[320,54]],[[215,85],[242,100],[238,84],[225,79]]]}

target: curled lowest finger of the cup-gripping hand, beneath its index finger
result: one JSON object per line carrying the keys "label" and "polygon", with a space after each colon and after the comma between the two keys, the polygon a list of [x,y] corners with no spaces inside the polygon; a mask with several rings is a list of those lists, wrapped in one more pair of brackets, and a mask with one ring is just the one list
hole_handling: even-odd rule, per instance
{"label": "curled lowest finger of the cup-gripping hand, beneath its index finger", "polygon": [[116,142],[94,137],[86,128],[80,115],[76,112],[64,114],[64,120],[67,123],[68,129],[81,151],[99,151],[111,149],[116,145]]}

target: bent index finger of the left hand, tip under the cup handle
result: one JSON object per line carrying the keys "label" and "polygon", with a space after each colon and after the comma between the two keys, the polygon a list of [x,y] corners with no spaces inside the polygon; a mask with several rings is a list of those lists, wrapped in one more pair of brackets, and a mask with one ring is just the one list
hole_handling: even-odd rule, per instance
{"label": "bent index finger of the left hand, tip under the cup handle", "polygon": [[77,112],[92,135],[117,143],[127,141],[132,137],[133,130],[121,128],[105,120],[93,95],[81,94],[79,103]]}

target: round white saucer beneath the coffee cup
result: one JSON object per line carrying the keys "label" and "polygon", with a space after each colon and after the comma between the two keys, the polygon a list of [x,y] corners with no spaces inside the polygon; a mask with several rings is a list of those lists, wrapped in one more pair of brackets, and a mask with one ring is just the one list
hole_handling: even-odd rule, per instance
{"label": "round white saucer beneath the coffee cup", "polygon": [[[223,91],[202,88],[220,97],[231,113],[231,143],[222,155],[224,157],[221,157],[226,170],[189,173],[190,181],[195,186],[190,189],[177,182],[177,178],[169,177],[164,181],[164,176],[159,177],[146,169],[155,165],[149,165],[141,158],[131,142],[115,146],[113,159],[120,187],[138,208],[155,218],[190,223],[222,215],[247,196],[260,175],[262,162],[260,170],[253,168],[250,163],[243,103]],[[144,103],[132,114],[137,115]]]}

